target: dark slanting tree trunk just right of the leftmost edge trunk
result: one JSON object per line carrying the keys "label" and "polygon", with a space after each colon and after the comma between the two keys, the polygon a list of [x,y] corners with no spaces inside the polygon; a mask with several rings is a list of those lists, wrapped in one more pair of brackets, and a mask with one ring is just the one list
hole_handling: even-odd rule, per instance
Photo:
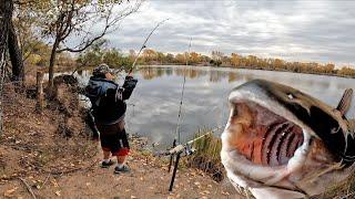
{"label": "dark slanting tree trunk just right of the leftmost edge trunk", "polygon": [[22,53],[19,49],[18,36],[16,34],[12,21],[10,21],[9,24],[8,36],[8,48],[12,65],[12,81],[17,82],[19,85],[22,85],[24,81]]}

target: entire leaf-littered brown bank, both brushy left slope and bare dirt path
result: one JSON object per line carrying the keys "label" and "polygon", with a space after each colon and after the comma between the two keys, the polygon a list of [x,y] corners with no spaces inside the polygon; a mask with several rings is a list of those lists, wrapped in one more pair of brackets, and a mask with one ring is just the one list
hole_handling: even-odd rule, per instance
{"label": "entire leaf-littered brown bank, both brushy left slope and bare dirt path", "polygon": [[100,168],[99,143],[88,138],[82,109],[68,91],[38,114],[28,91],[6,87],[0,198],[240,198],[227,180],[184,166],[169,192],[166,160],[142,150],[140,139],[131,140],[130,174]]}

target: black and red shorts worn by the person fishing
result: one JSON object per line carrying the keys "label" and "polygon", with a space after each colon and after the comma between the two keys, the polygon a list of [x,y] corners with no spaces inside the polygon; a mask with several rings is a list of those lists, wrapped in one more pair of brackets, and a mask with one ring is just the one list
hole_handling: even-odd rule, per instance
{"label": "black and red shorts worn by the person fishing", "polygon": [[124,121],[116,124],[97,124],[100,132],[102,150],[111,151],[112,156],[126,156],[130,153],[130,145],[124,129]]}

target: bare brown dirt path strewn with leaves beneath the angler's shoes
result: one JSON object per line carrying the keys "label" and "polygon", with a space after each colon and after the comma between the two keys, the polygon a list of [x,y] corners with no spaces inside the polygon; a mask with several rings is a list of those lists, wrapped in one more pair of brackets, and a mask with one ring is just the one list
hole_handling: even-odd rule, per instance
{"label": "bare brown dirt path strewn with leaves beneath the angler's shoes", "polygon": [[[37,198],[239,198],[227,181],[215,182],[205,174],[182,168],[174,189],[169,192],[171,174],[166,165],[158,165],[133,150],[129,158],[130,174],[114,175],[112,168],[100,168],[100,155],[89,166],[70,174],[24,175]],[[30,198],[17,178],[2,181],[0,192],[9,198]]]}

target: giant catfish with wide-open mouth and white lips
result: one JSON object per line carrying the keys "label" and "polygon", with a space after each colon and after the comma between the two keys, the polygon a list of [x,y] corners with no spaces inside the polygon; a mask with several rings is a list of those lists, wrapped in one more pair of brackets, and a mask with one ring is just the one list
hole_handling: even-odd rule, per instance
{"label": "giant catfish with wide-open mouth and white lips", "polygon": [[222,134],[222,164],[231,182],[256,198],[322,193],[354,170],[353,91],[338,106],[286,85],[254,80],[235,87]]}

